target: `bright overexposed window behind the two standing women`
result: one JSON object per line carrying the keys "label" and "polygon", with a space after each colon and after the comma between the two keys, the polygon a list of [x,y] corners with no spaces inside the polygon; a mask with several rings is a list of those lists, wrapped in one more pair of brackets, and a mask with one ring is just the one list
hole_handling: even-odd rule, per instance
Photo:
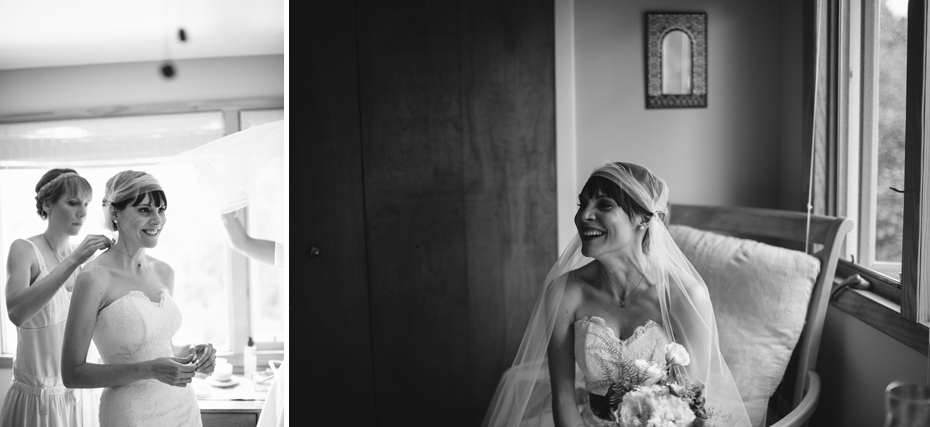
{"label": "bright overexposed window behind the two standing women", "polygon": [[[168,156],[238,131],[239,113],[185,112],[0,124],[0,257],[4,261],[0,275],[6,277],[5,260],[12,241],[45,229],[45,222],[35,212],[34,186],[48,169],[73,168],[94,189],[81,235],[72,238],[77,244],[87,234],[109,233],[103,228],[100,208],[109,177],[120,170],[145,170]],[[283,116],[283,110],[256,110],[252,115],[243,114],[246,120],[242,123],[263,123],[278,116]],[[276,316],[280,314],[277,271],[247,264],[228,247],[218,218],[199,215],[196,206],[171,204],[171,191],[165,190],[168,222],[158,246],[148,253],[175,270],[174,299],[184,315],[175,341],[211,342],[220,353],[237,354],[248,336],[258,341],[280,340],[277,331],[284,329],[287,320]],[[249,226],[250,231],[255,227]],[[250,299],[250,295],[255,297]],[[0,347],[10,354],[15,352],[16,329],[9,321],[3,297],[0,293]]]}

